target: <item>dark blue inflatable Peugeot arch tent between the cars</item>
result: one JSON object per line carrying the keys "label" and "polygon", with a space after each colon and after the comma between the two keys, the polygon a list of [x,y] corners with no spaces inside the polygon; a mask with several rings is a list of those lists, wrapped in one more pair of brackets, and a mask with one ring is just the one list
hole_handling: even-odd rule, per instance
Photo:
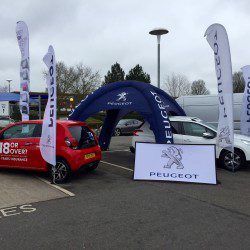
{"label": "dark blue inflatable Peugeot arch tent between the cars", "polygon": [[137,81],[105,85],[88,95],[70,114],[69,120],[85,121],[102,110],[107,116],[99,136],[102,150],[107,150],[119,120],[131,111],[141,114],[151,126],[156,143],[173,143],[169,115],[186,115],[177,102],[155,86]]}

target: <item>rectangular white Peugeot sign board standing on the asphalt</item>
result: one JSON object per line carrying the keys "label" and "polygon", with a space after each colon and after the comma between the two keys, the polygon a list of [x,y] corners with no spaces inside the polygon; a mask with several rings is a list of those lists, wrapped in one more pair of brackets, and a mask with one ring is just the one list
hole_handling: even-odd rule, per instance
{"label": "rectangular white Peugeot sign board standing on the asphalt", "polygon": [[216,184],[215,146],[136,143],[134,180]]}

